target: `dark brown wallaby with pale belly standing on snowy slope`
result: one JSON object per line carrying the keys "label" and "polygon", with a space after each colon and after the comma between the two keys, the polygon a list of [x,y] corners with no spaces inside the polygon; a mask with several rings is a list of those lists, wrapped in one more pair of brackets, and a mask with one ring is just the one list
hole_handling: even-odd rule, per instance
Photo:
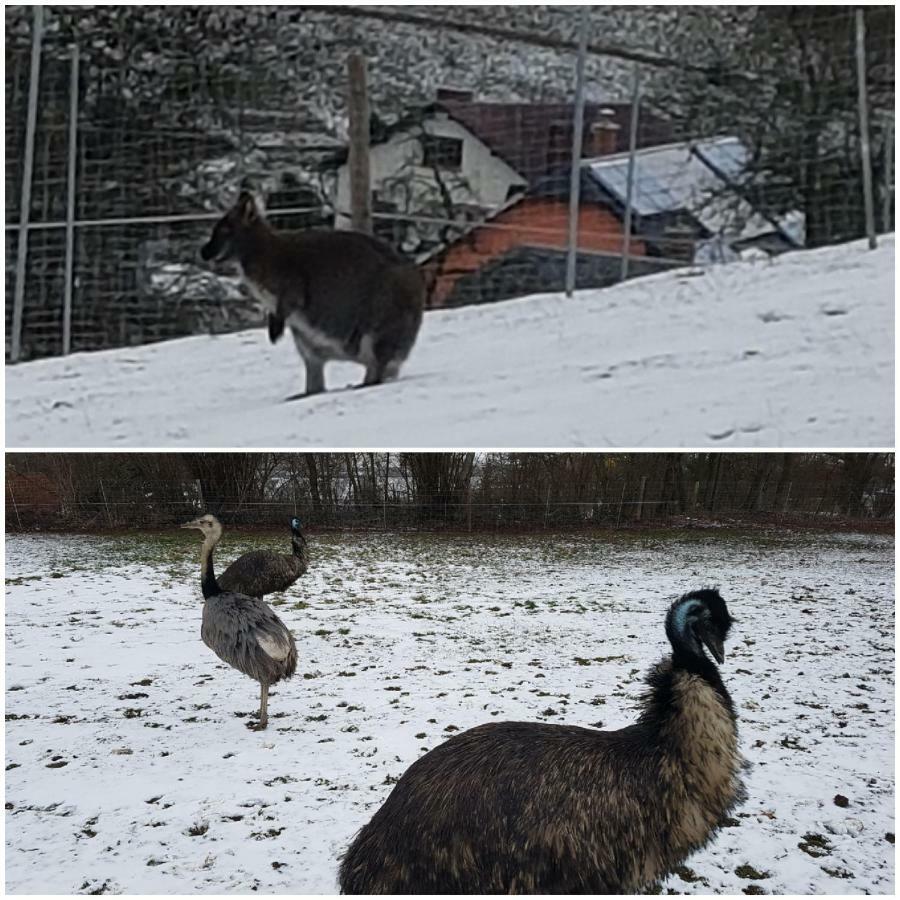
{"label": "dark brown wallaby with pale belly standing on snowy slope", "polygon": [[272,343],[290,328],[306,364],[306,395],[325,390],[331,359],[365,366],[363,385],[395,377],[422,324],[422,274],[389,244],[358,231],[276,231],[246,191],[200,255],[240,264],[268,314]]}

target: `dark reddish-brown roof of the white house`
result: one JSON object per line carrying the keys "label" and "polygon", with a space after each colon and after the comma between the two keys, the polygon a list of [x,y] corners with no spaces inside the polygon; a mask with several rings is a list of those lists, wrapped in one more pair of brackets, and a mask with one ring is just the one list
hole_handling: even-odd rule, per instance
{"label": "dark reddish-brown roof of the white house", "polygon": [[[472,100],[440,100],[410,111],[390,126],[373,122],[372,146],[383,144],[395,134],[430,116],[444,113],[470,131],[491,152],[518,172],[529,185],[549,173],[565,168],[572,159],[572,103],[487,103]],[[631,104],[587,103],[584,108],[582,156],[595,156],[592,126],[605,124],[611,132],[610,150],[628,149]],[[638,117],[637,146],[669,141],[669,123],[641,111]],[[346,162],[347,149],[336,153],[331,164]]]}

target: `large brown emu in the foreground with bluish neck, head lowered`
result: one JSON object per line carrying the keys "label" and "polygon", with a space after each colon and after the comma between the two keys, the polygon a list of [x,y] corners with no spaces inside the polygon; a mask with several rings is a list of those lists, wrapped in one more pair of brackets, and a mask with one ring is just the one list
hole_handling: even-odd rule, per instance
{"label": "large brown emu in the foreground with bluish neck, head lowered", "polygon": [[345,894],[631,894],[658,882],[744,799],[734,706],[714,659],[716,590],[669,609],[672,654],[634,725],[501,722],[405,772],[340,866]]}

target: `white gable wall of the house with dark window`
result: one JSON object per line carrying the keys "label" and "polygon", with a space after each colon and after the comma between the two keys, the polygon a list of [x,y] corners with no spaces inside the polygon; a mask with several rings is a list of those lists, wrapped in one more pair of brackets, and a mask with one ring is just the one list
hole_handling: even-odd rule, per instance
{"label": "white gable wall of the house with dark window", "polygon": [[[472,132],[446,115],[426,119],[425,130],[438,137],[456,138],[463,142],[462,165],[457,170],[447,170],[447,185],[456,204],[480,206],[493,210],[502,206],[514,185],[524,186],[525,180]],[[412,182],[410,211],[415,214],[437,193],[434,173],[421,165],[422,147],[416,132],[398,132],[382,144],[376,144],[369,152],[369,172],[372,188],[381,192],[386,180],[395,178],[410,161],[416,165]],[[458,182],[463,182],[459,184]],[[466,189],[468,187],[468,189]],[[346,164],[338,169],[335,203],[335,227],[350,227],[350,176]]]}

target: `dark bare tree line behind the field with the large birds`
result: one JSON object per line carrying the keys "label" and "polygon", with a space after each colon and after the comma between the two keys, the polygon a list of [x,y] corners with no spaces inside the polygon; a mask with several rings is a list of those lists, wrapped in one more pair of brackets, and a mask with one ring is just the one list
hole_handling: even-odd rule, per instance
{"label": "dark bare tree line behind the field with the large birds", "polygon": [[7,454],[7,530],[231,525],[506,530],[679,517],[891,520],[885,453]]}

